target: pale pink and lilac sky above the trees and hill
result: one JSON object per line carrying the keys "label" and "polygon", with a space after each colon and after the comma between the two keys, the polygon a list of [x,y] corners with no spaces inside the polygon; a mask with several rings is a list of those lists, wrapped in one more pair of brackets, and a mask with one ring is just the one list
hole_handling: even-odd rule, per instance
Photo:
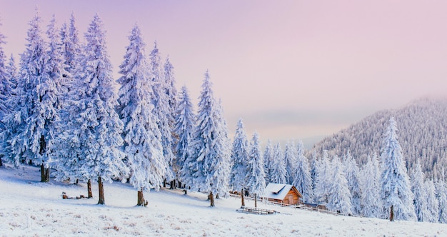
{"label": "pale pink and lilac sky above the trees and hill", "polygon": [[[39,6],[46,25],[98,13],[118,77],[137,23],[197,102],[209,69],[231,133],[263,141],[328,136],[382,109],[447,96],[447,1],[1,0],[6,53],[24,51]],[[231,135],[233,136],[233,135]]]}

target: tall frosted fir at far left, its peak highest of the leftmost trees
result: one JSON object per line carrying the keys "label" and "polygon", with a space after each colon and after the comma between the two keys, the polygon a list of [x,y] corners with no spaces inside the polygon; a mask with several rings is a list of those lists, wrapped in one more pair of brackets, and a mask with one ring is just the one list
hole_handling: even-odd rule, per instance
{"label": "tall frosted fir at far left, its peak highest of the leftmost trees", "polygon": [[[40,29],[39,12],[29,22],[28,43],[21,54],[19,98],[14,111],[6,116],[7,130],[4,138],[6,153],[18,163],[21,158],[41,166],[41,181],[49,181],[48,148],[54,141],[56,113],[56,83],[49,76],[49,56]],[[15,160],[15,161],[14,161]]]}

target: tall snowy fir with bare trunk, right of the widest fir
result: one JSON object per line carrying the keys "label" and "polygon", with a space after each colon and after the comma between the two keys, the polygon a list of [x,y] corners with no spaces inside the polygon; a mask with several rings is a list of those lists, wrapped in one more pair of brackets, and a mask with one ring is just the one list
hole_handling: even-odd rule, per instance
{"label": "tall snowy fir with bare trunk, right of the widest fir", "polygon": [[124,153],[132,173],[130,183],[137,189],[137,206],[146,206],[144,191],[163,185],[169,164],[163,156],[163,147],[156,116],[151,104],[152,89],[149,86],[149,66],[146,61],[144,40],[138,26],[129,36],[124,61],[119,66],[118,113],[124,123]]}

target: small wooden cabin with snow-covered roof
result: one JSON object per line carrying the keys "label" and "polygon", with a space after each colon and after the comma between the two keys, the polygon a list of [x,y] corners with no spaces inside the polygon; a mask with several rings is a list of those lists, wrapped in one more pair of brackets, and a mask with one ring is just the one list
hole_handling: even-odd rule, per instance
{"label": "small wooden cabin with snow-covered roof", "polygon": [[278,204],[298,205],[303,195],[293,185],[268,183],[261,198]]}

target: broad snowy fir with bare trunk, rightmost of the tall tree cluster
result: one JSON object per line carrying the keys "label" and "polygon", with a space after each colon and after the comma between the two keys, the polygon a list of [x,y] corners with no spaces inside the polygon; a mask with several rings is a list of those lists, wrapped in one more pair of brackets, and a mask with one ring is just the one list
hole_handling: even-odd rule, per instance
{"label": "broad snowy fir with bare trunk, rightmost of the tall tree cluster", "polygon": [[[194,141],[190,149],[191,158],[187,158],[185,166],[191,173],[188,183],[191,189],[209,193],[211,206],[214,206],[214,194],[228,189],[228,183],[225,182],[228,182],[230,171],[230,154],[228,147],[224,146],[224,143],[228,143],[228,137],[225,137],[224,125],[219,124],[224,121],[211,86],[209,73],[206,71],[199,96]],[[222,171],[228,173],[221,173]]]}

